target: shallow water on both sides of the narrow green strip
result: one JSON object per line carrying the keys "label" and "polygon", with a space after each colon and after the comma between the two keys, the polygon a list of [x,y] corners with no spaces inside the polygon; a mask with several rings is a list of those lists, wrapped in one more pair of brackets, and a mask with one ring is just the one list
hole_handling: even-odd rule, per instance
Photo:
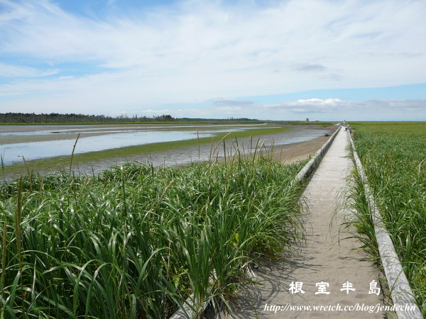
{"label": "shallow water on both sides of the narrow green strip", "polygon": [[[75,144],[77,133],[81,133],[77,142],[75,153],[92,152],[97,150],[107,150],[118,147],[132,145],[144,145],[154,142],[171,142],[177,140],[196,139],[197,132],[200,138],[211,137],[217,133],[232,132],[253,128],[261,128],[263,125],[102,125],[102,128],[93,125],[84,126],[64,126],[48,125],[24,128],[0,128],[0,155],[3,157],[3,164],[9,165],[13,162],[22,162],[25,159],[42,159],[60,155],[71,155],[72,147]],[[184,129],[180,129],[184,128]],[[331,133],[332,128],[318,128],[307,125],[291,125],[290,130],[283,133],[263,135],[261,138],[239,138],[238,141],[227,140],[225,150],[223,144],[210,145],[209,143],[193,145],[189,147],[179,147],[173,150],[153,152],[152,154],[133,155],[129,157],[116,157],[114,159],[99,159],[95,162],[85,164],[75,163],[75,170],[80,173],[92,174],[108,169],[111,165],[125,161],[149,162],[154,166],[160,165],[182,165],[191,162],[208,161],[217,157],[227,158],[235,154],[237,148],[241,155],[248,155],[256,150],[269,150],[274,145],[275,150],[280,149],[280,145],[305,142],[313,140],[325,133]],[[27,135],[25,135],[27,134]],[[1,145],[1,136],[14,135],[15,143]],[[44,136],[40,142],[26,142],[26,136]],[[60,136],[58,136],[60,135]],[[21,137],[22,138],[21,138]],[[48,136],[46,138],[46,136]],[[49,140],[50,137],[52,140]],[[58,140],[59,138],[59,140]],[[6,140],[4,140],[6,142]],[[47,169],[46,172],[54,171]],[[5,177],[9,179],[9,177]]]}

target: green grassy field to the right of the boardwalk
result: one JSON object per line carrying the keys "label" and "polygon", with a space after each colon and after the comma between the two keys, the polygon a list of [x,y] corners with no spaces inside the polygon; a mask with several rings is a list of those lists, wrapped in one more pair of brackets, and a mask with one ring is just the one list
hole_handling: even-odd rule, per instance
{"label": "green grassy field to the right of the boardwalk", "polygon": [[[351,123],[378,209],[426,315],[426,123]],[[362,190],[356,208],[366,249],[377,258],[373,225]]]}

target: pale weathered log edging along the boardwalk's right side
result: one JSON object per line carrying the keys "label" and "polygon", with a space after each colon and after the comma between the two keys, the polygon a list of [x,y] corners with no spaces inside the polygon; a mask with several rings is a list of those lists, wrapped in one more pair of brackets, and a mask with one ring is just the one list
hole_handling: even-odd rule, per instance
{"label": "pale weathered log edging along the boardwalk's right side", "polygon": [[395,252],[395,247],[393,247],[391,236],[389,236],[388,230],[386,230],[381,214],[377,209],[376,202],[374,201],[373,195],[368,187],[366,174],[364,173],[361,160],[356,153],[354,140],[352,140],[349,133],[348,138],[352,146],[352,152],[354,153],[354,164],[356,165],[359,176],[364,183],[366,199],[368,201],[368,206],[370,207],[372,214],[371,217],[374,223],[378,252],[381,257],[381,263],[385,271],[389,289],[391,289],[392,301],[396,306],[396,315],[401,319],[423,318],[420,309],[415,303],[413,291],[411,291],[410,284],[408,284],[407,276],[405,276],[403,267]]}

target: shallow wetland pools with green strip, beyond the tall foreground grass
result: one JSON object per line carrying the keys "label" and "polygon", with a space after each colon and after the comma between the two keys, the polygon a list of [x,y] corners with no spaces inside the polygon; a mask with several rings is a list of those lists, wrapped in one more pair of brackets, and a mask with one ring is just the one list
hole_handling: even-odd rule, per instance
{"label": "shallow wetland pools with green strip, beyond the tall foreground grass", "polygon": [[[14,179],[19,174],[25,174],[28,168],[22,166],[23,157],[31,170],[43,174],[58,172],[70,166],[73,145],[80,134],[73,169],[92,174],[126,161],[175,166],[230,157],[237,148],[241,154],[248,155],[255,151],[256,145],[262,150],[273,147],[274,151],[279,152],[280,145],[314,140],[332,131],[332,127],[290,124],[0,126],[0,156],[4,167],[3,179]],[[213,142],[214,136],[225,133],[236,133],[239,138],[229,138],[225,145],[218,143],[217,138]],[[200,143],[197,142],[198,138]],[[155,148],[150,144],[168,146]],[[129,147],[133,146],[137,150],[129,151]]]}

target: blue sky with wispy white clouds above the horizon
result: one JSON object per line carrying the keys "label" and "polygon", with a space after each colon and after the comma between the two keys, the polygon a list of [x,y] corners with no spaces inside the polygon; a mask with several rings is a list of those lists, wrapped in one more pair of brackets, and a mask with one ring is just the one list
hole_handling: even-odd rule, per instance
{"label": "blue sky with wispy white clouds above the horizon", "polygon": [[0,0],[0,112],[426,121],[424,0]]}

